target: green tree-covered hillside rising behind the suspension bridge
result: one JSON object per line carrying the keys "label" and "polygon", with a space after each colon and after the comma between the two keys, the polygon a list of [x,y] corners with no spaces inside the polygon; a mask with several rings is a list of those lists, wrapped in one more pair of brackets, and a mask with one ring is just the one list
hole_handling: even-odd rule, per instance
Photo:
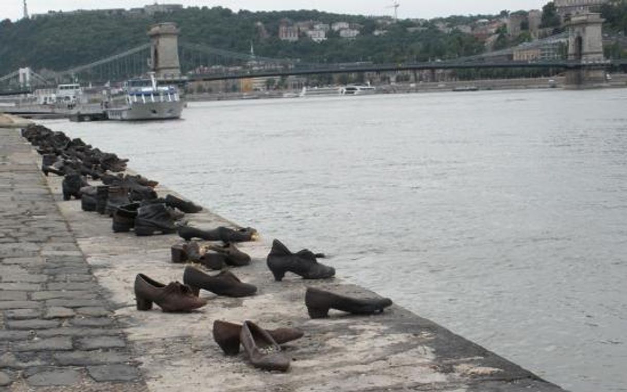
{"label": "green tree-covered hillside rising behind the suspension bridge", "polygon": [[[470,23],[490,16],[455,16],[451,23]],[[282,19],[292,21],[347,21],[361,24],[357,39],[341,39],[329,34],[323,43],[300,39],[297,43],[280,41],[278,26]],[[272,11],[233,13],[222,7],[190,7],[171,14],[150,16],[107,16],[97,11],[77,14],[57,14],[15,23],[0,22],[0,75],[19,67],[31,66],[36,71],[67,70],[97,59],[120,53],[148,42],[151,24],[172,21],[181,28],[181,41],[204,44],[214,48],[248,53],[250,43],[255,52],[271,58],[301,59],[308,63],[345,63],[372,61],[374,63],[407,63],[436,58],[456,58],[482,53],[483,44],[473,36],[453,31],[442,33],[433,26],[423,31],[409,32],[413,21],[401,21],[385,26],[388,33],[374,36],[382,28],[372,18],[356,15],[331,14],[320,11]],[[271,34],[263,39],[256,23],[265,25]],[[209,64],[211,65],[211,64]]]}

